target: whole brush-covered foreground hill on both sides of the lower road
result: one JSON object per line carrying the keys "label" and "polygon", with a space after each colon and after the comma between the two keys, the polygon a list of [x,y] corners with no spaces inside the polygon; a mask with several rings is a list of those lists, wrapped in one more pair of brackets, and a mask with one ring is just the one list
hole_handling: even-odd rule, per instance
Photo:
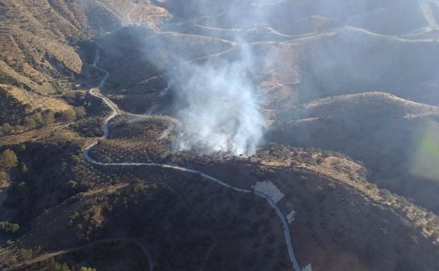
{"label": "whole brush-covered foreground hill on both sides of the lower road", "polygon": [[[438,218],[377,189],[361,165],[340,153],[272,144],[248,159],[186,154],[173,163],[242,188],[276,187],[280,210],[293,214],[296,257],[313,270],[434,270],[438,264]],[[93,170],[101,173],[91,189],[42,211],[22,237],[0,249],[3,267],[32,270],[52,257],[61,261],[123,241],[146,247],[161,270],[291,270],[283,227],[263,198],[173,169]],[[84,262],[77,256],[68,263]]]}

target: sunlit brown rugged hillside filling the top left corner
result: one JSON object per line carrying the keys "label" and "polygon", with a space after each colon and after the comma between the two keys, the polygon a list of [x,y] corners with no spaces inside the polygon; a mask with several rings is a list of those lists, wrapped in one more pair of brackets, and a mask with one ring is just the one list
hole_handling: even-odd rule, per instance
{"label": "sunlit brown rugged hillside filling the top left corner", "polygon": [[[165,11],[154,8],[148,1],[135,5],[111,0],[0,1],[1,101],[9,111],[1,114],[0,124],[23,122],[30,108],[66,109],[59,96],[47,97],[71,92],[75,84],[85,82],[90,73],[87,62],[92,62],[89,53],[94,49],[82,41],[141,21],[139,14],[128,17],[130,11],[149,9],[149,13],[164,14],[143,22],[149,27],[167,20]],[[17,99],[18,92],[35,99]],[[48,105],[41,104],[42,100]]]}

